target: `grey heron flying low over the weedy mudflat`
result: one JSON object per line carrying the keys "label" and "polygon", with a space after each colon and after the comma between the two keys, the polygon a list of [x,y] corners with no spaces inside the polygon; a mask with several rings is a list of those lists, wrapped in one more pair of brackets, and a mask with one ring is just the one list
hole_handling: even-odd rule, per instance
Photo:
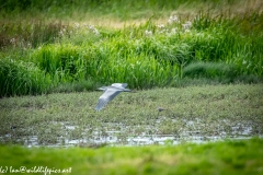
{"label": "grey heron flying low over the weedy mudflat", "polygon": [[100,112],[110,101],[112,101],[121,92],[130,92],[129,89],[125,89],[127,83],[113,83],[110,86],[102,86],[98,90],[102,90],[104,93],[100,96],[95,110]]}

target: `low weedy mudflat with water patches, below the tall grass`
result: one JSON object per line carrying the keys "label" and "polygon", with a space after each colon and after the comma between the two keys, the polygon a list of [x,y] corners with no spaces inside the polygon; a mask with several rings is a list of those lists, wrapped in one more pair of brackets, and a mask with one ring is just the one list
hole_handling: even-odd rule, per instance
{"label": "low weedy mudflat with water patches, below the tall grass", "polygon": [[138,91],[116,96],[100,113],[94,107],[101,92],[2,98],[0,142],[141,145],[262,137],[261,88],[225,84]]}

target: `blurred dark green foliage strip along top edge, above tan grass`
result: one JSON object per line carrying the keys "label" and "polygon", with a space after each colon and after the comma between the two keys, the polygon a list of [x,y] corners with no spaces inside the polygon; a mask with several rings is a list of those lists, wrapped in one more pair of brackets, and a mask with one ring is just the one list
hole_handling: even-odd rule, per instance
{"label": "blurred dark green foliage strip along top edge, above tan grass", "polygon": [[[0,10],[5,10],[8,12],[12,11],[28,11],[31,9],[44,12],[47,9],[49,11],[56,10],[59,13],[62,10],[66,10],[71,14],[72,10],[79,11],[93,11],[95,13],[114,13],[115,15],[121,16],[121,13],[132,13],[134,11],[139,11],[142,9],[153,9],[153,10],[163,10],[164,8],[168,10],[178,9],[182,4],[187,3],[204,3],[204,0],[142,0],[142,1],[129,1],[129,0],[75,0],[75,1],[53,1],[46,0],[37,1],[37,0],[1,0]],[[213,0],[210,1],[211,4],[224,4],[224,3],[231,3],[235,0]],[[144,8],[142,8],[144,7]],[[101,12],[100,12],[101,11]]]}

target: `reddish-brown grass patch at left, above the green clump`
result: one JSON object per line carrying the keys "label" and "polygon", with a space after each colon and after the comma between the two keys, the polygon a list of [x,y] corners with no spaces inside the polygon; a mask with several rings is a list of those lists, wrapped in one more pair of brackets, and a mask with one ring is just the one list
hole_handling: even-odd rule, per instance
{"label": "reddish-brown grass patch at left, above the green clump", "polygon": [[43,44],[54,43],[60,37],[64,25],[59,22],[45,21],[0,21],[0,50],[9,47],[35,48]]}

